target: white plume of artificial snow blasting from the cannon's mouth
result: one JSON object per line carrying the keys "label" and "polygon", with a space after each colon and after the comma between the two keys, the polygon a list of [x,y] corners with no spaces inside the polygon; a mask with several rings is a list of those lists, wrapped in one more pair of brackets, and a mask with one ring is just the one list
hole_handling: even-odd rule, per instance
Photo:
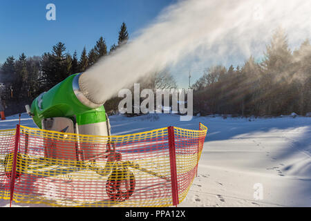
{"label": "white plume of artificial snow blasting from the cannon's mouth", "polygon": [[230,56],[256,55],[279,26],[302,41],[310,37],[310,10],[309,0],[178,1],[87,70],[79,84],[88,99],[101,104],[141,77],[191,59],[198,51],[219,63]]}

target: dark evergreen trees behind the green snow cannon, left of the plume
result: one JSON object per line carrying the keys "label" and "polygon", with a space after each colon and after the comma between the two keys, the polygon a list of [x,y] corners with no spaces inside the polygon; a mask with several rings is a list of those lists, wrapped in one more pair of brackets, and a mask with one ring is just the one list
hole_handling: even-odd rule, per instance
{"label": "dark evergreen trees behind the green snow cannon, left of the plume", "polygon": [[117,48],[126,44],[129,33],[123,22],[120,27],[117,44],[107,49],[106,41],[100,37],[91,50],[82,50],[78,58],[66,52],[66,46],[58,42],[50,52],[41,56],[26,57],[21,53],[19,58],[7,57],[0,67],[1,102],[6,108],[6,115],[24,112],[24,104],[31,104],[39,94],[49,90],[69,75],[84,72],[100,58],[109,56]]}

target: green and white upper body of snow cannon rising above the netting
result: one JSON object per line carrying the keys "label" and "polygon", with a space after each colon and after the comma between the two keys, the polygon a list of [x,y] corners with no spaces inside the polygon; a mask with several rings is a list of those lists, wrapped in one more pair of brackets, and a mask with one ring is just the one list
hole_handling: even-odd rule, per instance
{"label": "green and white upper body of snow cannon rising above the netting", "polygon": [[[70,75],[35,98],[31,108],[26,105],[27,113],[39,128],[82,135],[111,135],[104,102],[95,104],[86,97],[88,89],[84,86],[85,80],[81,80],[82,75],[83,73]],[[83,86],[84,92],[81,90]],[[93,155],[90,151],[87,158]]]}

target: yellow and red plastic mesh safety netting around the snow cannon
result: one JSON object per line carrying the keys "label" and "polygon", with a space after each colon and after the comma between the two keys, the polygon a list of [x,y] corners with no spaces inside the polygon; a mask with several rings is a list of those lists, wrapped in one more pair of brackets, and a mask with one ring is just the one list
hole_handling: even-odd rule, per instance
{"label": "yellow and red plastic mesh safety netting around the snow cannon", "polygon": [[50,206],[171,206],[196,177],[207,128],[118,136],[0,131],[0,198]]}

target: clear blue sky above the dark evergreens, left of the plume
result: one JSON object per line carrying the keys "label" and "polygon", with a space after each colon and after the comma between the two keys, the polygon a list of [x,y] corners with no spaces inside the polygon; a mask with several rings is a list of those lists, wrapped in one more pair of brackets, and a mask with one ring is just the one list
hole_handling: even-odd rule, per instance
{"label": "clear blue sky above the dark evergreens, left of the plume", "polygon": [[[0,63],[22,52],[42,55],[62,41],[68,52],[78,56],[90,50],[100,36],[108,48],[117,43],[124,21],[129,35],[144,28],[159,12],[177,0],[37,0],[0,1]],[[56,21],[46,20],[46,5],[56,6]]]}

